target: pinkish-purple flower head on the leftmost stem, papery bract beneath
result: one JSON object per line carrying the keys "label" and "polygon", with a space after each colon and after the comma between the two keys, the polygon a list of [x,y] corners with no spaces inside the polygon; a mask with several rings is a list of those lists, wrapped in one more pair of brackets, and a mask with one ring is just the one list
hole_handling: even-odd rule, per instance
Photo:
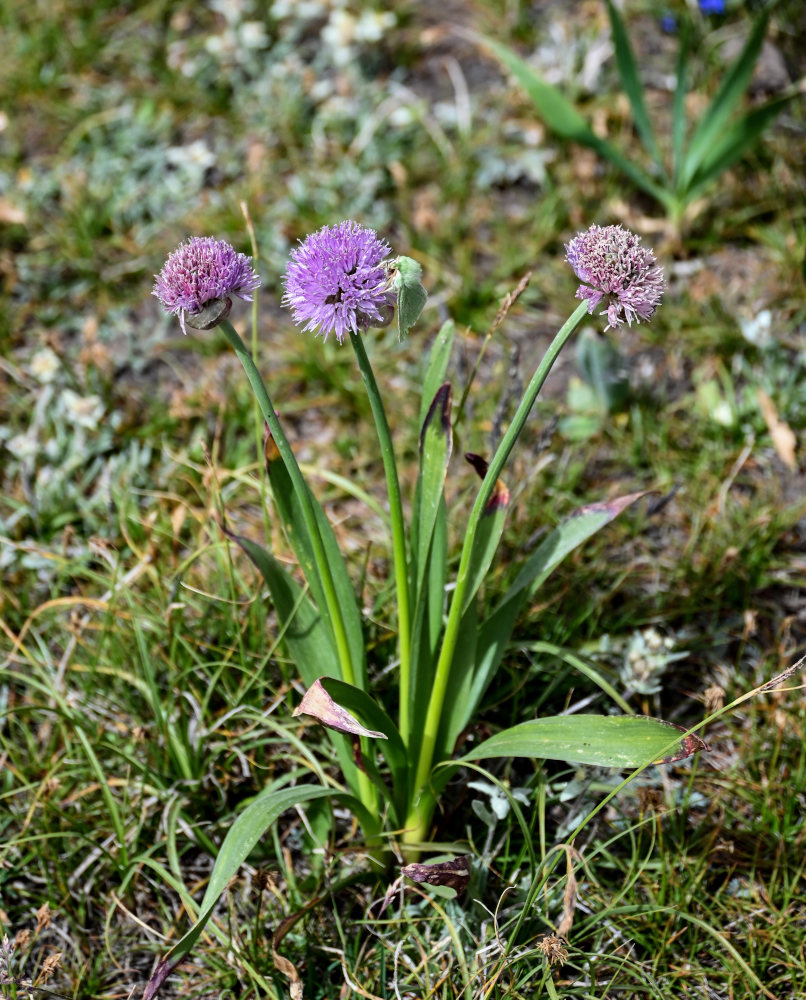
{"label": "pinkish-purple flower head on the leftmost stem, papery bract beneath", "polygon": [[186,318],[194,329],[217,326],[229,315],[231,295],[251,302],[260,285],[252,258],[212,236],[191,236],[180,243],[155,278],[152,295],[166,312],[179,316],[183,333]]}

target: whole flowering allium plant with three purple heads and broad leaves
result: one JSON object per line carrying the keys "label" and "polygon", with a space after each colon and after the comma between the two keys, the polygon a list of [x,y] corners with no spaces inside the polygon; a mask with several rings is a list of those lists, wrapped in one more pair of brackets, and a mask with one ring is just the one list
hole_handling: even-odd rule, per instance
{"label": "whole flowering allium plant with three purple heads and broad leaves", "polygon": [[[193,246],[186,244],[177,254],[188,253]],[[220,300],[238,292],[231,283],[235,252],[217,247],[211,257],[218,255],[228,266],[220,276],[211,267],[203,287]],[[571,551],[643,495],[577,511],[527,556],[506,593],[479,615],[479,589],[495,558],[510,503],[501,477],[563,345],[601,301],[607,302],[609,325],[616,326],[625,320],[649,319],[663,290],[651,251],[619,227],[594,226],[567,250],[577,274],[592,287],[582,293],[583,301],[554,337],[494,454],[465,456],[481,483],[461,525],[464,541],[452,581],[447,577],[448,518],[465,517],[461,510],[449,510],[445,493],[452,448],[452,388],[445,374],[454,326],[448,322],[439,331],[425,369],[419,473],[407,520],[392,437],[363,334],[370,326],[387,322],[394,306],[400,335],[406,335],[426,299],[420,266],[406,257],[389,260],[386,244],[354,222],[321,229],[291,254],[283,301],[305,329],[324,337],[333,332],[340,343],[349,339],[377,428],[397,598],[396,620],[389,625],[397,633],[399,654],[398,685],[385,700],[371,690],[360,605],[333,529],[302,476],[252,356],[230,322],[219,318],[266,421],[266,468],[273,503],[307,587],[255,541],[234,533],[230,537],[262,573],[285,652],[306,688],[295,714],[305,714],[327,728],[343,783],[288,787],[284,777],[269,783],[250,802],[224,840],[196,924],[160,963],[144,1000],[156,993],[198,938],[218,896],[258,838],[292,806],[317,798],[337,800],[358,820],[371,857],[383,861],[390,856],[387,852],[394,851],[416,862],[428,849],[440,794],[464,762],[521,756],[640,769],[652,762],[680,760],[703,748],[697,737],[682,734],[669,723],[631,714],[630,706],[612,689],[608,693],[622,715],[543,717],[478,745],[462,739],[483,706],[524,605],[534,600],[546,577]],[[184,266],[173,264],[166,265],[158,285],[165,308],[188,309],[192,322],[192,316],[209,303],[199,285],[193,288],[196,298],[189,297],[185,289],[189,281]],[[238,272],[237,287],[246,292],[257,287],[257,278],[246,265]],[[410,864],[404,872],[418,881],[434,883],[444,877],[457,885],[466,862],[444,869]]]}

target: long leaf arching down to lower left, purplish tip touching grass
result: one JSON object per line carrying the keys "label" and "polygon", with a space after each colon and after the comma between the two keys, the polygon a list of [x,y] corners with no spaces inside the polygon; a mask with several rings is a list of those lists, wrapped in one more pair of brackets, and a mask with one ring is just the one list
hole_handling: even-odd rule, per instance
{"label": "long leaf arching down to lower left, purplish tip touching grass", "polygon": [[359,817],[368,822],[372,829],[372,817],[364,806],[353,796],[321,785],[299,785],[295,788],[280,788],[272,783],[257,795],[243,812],[235,819],[224,838],[221,850],[213,865],[207,891],[199,907],[199,916],[190,930],[177,941],[168,954],[160,960],[157,968],[149,979],[143,1000],[152,1000],[171,970],[187,955],[199,939],[205,925],[213,914],[218,898],[226,889],[230,879],[237,873],[240,866],[249,856],[252,848],[273,823],[293,806],[310,802],[313,799],[336,798],[347,805]]}

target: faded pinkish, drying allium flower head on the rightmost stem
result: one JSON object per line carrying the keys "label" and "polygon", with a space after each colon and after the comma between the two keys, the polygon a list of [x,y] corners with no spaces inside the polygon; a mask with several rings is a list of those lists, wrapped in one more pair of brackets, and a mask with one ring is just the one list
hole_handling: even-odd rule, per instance
{"label": "faded pinkish, drying allium flower head on the rightmost stem", "polygon": [[584,281],[578,299],[588,300],[588,312],[605,300],[607,326],[649,320],[660,305],[665,284],[655,254],[641,245],[641,237],[621,226],[591,226],[565,248],[565,259]]}

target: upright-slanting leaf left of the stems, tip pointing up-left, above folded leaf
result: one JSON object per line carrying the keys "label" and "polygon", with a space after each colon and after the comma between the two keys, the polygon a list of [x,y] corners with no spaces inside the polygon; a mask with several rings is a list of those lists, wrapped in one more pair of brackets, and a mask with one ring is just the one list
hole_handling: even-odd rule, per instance
{"label": "upright-slanting leaf left of the stems, tip pointing up-left, above folded leaf", "polygon": [[224,529],[260,571],[269,588],[282,629],[281,640],[299,675],[310,687],[318,677],[338,677],[339,660],[322,616],[305,591],[283,566],[257,542]]}

